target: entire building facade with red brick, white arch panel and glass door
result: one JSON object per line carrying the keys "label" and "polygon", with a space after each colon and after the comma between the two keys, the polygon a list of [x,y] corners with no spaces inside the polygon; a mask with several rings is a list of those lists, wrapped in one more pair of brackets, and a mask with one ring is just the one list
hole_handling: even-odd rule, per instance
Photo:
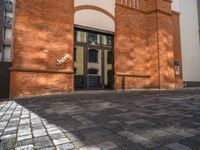
{"label": "entire building facade with red brick, white arch panel and glass door", "polygon": [[6,0],[15,5],[10,97],[197,86],[197,1],[182,1]]}

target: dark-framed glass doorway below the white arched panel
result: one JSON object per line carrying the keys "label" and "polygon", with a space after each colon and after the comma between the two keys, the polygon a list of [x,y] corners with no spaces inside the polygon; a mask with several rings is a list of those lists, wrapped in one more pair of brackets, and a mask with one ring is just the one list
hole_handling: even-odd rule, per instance
{"label": "dark-framed glass doorway below the white arched panel", "polygon": [[113,34],[75,28],[75,90],[113,89]]}

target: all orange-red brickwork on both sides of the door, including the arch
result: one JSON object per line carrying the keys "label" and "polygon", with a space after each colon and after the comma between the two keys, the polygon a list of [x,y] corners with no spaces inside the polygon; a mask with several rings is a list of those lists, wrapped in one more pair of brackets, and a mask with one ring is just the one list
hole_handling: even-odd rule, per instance
{"label": "all orange-red brickwork on both sides of the door, including the arch", "polygon": [[[170,0],[118,0],[115,18],[89,5],[74,9],[73,0],[17,0],[11,97],[73,91],[74,12],[81,9],[115,20],[115,89],[122,82],[126,89],[181,87],[182,76],[174,73],[174,60],[181,57],[180,42],[174,44],[178,18]],[[69,62],[57,66],[66,53]]]}

